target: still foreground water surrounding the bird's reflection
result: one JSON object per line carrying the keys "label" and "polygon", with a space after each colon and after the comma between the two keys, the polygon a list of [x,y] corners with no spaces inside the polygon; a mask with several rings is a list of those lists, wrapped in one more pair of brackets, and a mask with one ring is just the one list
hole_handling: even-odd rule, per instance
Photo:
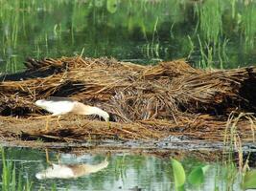
{"label": "still foreground water surrounding the bird's reflection", "polygon": [[[108,163],[94,173],[83,175],[76,179],[36,179],[36,173],[45,170],[47,167],[53,169],[46,162],[45,151],[25,148],[6,148],[7,160],[12,160],[15,164],[16,173],[21,172],[22,179],[33,182],[31,190],[175,190],[174,177],[171,159],[161,159],[154,156],[135,155],[128,153],[113,154],[68,154],[49,152],[49,159],[53,163],[73,164],[81,163],[92,166],[101,162]],[[182,163],[186,174],[198,165],[208,164],[209,168],[205,173],[204,180],[199,186],[194,186],[189,182],[185,187],[187,190],[226,190],[227,179],[226,167],[221,166],[221,162],[211,160],[200,161],[187,153],[179,161]],[[1,160],[2,169],[2,160]],[[63,172],[60,173],[60,176]],[[230,188],[242,190],[239,183],[231,182]]]}

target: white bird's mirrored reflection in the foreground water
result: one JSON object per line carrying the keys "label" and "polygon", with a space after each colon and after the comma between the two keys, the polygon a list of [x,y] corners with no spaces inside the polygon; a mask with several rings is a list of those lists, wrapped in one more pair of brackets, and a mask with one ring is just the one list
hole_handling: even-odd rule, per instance
{"label": "white bird's mirrored reflection in the foreground water", "polygon": [[55,164],[51,163],[47,169],[35,174],[38,180],[44,179],[72,179],[84,175],[96,173],[105,169],[108,165],[107,157],[98,164]]}

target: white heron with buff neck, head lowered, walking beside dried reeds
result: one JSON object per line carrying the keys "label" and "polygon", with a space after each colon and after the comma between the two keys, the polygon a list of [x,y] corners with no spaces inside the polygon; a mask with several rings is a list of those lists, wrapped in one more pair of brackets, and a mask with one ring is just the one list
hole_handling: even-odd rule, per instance
{"label": "white heron with buff neck, head lowered, walking beside dried reeds", "polygon": [[[109,115],[104,110],[98,107],[84,105],[83,103],[72,100],[71,98],[52,96],[47,99],[36,100],[35,105],[52,113],[52,117],[58,117],[57,122],[60,127],[59,117],[68,114],[97,115],[99,117],[103,117],[107,122],[108,127],[110,126]],[[48,123],[49,117],[47,117],[46,130],[48,130]]]}

